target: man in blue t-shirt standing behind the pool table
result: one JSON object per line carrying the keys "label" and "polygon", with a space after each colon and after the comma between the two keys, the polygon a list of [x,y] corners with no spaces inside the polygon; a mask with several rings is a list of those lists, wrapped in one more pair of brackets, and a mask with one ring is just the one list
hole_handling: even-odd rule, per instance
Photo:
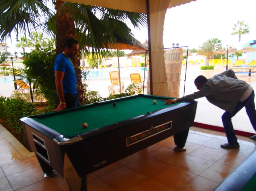
{"label": "man in blue t-shirt standing behind the pool table", "polygon": [[53,111],[80,106],[78,94],[83,94],[83,89],[77,89],[77,77],[74,65],[70,58],[78,54],[78,41],[68,39],[64,51],[57,56],[54,62],[55,85],[59,98],[59,105]]}

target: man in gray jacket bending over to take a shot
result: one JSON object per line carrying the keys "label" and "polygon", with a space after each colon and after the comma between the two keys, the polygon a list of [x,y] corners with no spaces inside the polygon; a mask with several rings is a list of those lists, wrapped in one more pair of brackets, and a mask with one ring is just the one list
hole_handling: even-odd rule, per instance
{"label": "man in gray jacket bending over to take a shot", "polygon": [[[239,143],[237,142],[231,118],[245,107],[250,122],[256,131],[256,110],[253,88],[245,81],[238,80],[233,70],[226,70],[210,79],[206,79],[204,76],[198,76],[194,83],[199,91],[182,98],[167,100],[165,104],[206,97],[210,103],[226,111],[222,115],[222,122],[228,143],[222,144],[221,147],[239,149]],[[250,138],[256,140],[256,135]]]}

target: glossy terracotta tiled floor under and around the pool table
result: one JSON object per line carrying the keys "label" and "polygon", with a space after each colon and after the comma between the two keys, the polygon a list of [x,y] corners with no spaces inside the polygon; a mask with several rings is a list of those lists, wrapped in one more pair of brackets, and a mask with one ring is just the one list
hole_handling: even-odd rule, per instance
{"label": "glossy terracotta tiled floor under and around the pool table", "polygon": [[[211,191],[255,149],[238,136],[240,150],[222,149],[224,133],[192,127],[186,152],[174,152],[170,137],[87,177],[89,191]],[[60,175],[43,178],[29,153],[0,125],[1,191],[68,191]]]}

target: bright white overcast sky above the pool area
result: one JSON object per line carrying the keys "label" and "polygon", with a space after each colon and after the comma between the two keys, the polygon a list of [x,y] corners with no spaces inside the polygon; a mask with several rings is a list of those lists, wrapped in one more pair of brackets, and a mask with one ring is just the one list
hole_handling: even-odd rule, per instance
{"label": "bright white overcast sky above the pool area", "polygon": [[[256,40],[255,0],[197,0],[185,5],[170,8],[166,12],[163,43],[165,48],[179,43],[179,46],[188,46],[189,49],[198,48],[203,42],[211,38],[218,38],[224,47],[236,46],[238,35],[232,36],[232,28],[237,21],[245,20],[250,27],[247,35],[241,36],[241,42]],[[134,29],[134,36],[141,43],[148,40],[146,28]],[[22,52],[16,48],[15,34],[12,43],[7,40],[11,53]],[[26,48],[28,51],[30,48]]]}

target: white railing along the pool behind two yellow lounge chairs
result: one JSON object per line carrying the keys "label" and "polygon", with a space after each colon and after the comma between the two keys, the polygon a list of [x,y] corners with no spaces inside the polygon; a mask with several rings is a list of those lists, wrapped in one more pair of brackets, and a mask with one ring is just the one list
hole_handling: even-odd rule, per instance
{"label": "white railing along the pool behind two yellow lounge chairs", "polygon": [[[88,69],[89,71],[89,79],[96,78],[109,78],[109,72],[118,71],[118,68],[100,68],[100,69]],[[144,77],[144,67],[126,67],[120,68],[120,76],[121,77],[130,77],[131,73],[140,73],[141,77]],[[145,72],[145,76],[147,77],[148,72]]]}

